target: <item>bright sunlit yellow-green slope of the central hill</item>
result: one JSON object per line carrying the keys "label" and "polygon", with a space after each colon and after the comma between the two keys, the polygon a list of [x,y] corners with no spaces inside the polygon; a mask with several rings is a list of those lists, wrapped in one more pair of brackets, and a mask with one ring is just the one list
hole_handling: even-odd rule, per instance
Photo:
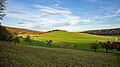
{"label": "bright sunlit yellow-green slope of the central hill", "polygon": [[75,42],[91,42],[96,40],[113,40],[110,36],[99,36],[85,33],[74,33],[74,32],[51,32],[40,35],[40,39],[53,39],[55,41],[75,41]]}

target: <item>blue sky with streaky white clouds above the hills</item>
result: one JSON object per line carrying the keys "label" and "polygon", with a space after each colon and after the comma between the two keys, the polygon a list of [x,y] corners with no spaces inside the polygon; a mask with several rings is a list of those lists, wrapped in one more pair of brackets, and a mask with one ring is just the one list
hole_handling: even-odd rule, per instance
{"label": "blue sky with streaky white clouds above the hills", "polygon": [[120,27],[120,0],[8,0],[2,25],[39,31]]}

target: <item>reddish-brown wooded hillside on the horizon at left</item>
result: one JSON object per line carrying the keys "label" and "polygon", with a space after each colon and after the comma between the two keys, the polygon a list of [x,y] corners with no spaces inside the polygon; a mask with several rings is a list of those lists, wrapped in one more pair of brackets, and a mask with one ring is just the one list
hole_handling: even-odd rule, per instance
{"label": "reddish-brown wooded hillside on the horizon at left", "polygon": [[17,34],[43,34],[42,31],[34,31],[34,30],[28,30],[28,29],[22,29],[22,28],[14,28],[14,27],[8,27],[8,26],[2,26],[6,28],[8,31],[15,32]]}

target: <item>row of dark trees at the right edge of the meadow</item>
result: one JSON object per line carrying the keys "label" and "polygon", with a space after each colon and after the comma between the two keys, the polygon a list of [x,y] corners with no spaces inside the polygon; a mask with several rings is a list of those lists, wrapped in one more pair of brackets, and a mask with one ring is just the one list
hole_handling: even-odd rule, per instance
{"label": "row of dark trees at the right edge of the meadow", "polygon": [[93,49],[95,52],[99,47],[105,49],[106,53],[108,53],[108,50],[115,50],[117,53],[117,51],[120,51],[120,42],[107,41],[107,42],[98,42],[91,44],[91,49]]}

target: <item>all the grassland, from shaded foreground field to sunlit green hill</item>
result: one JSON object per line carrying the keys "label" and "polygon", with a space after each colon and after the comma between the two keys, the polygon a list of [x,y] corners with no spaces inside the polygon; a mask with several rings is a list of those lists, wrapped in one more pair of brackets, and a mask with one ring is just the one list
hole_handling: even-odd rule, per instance
{"label": "all the grassland, from shaded foreground field to sunlit green hill", "polygon": [[[31,43],[23,38],[31,36]],[[0,42],[1,67],[120,67],[120,54],[97,52],[91,43],[114,41],[119,36],[99,36],[74,32],[50,32],[41,35],[19,34],[20,43]],[[46,43],[52,40],[50,48]],[[61,46],[70,44],[70,46]]]}

